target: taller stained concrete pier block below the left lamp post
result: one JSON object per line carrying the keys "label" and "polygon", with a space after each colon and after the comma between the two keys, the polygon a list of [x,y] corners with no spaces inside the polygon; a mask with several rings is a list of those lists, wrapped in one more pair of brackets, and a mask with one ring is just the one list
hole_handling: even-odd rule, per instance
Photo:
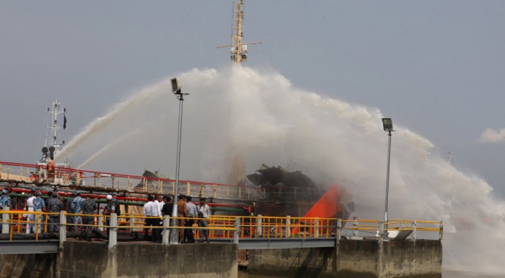
{"label": "taller stained concrete pier block below the left lamp post", "polygon": [[[94,245],[94,246],[93,246]],[[160,245],[65,242],[60,277],[228,278],[238,275],[233,244]]]}

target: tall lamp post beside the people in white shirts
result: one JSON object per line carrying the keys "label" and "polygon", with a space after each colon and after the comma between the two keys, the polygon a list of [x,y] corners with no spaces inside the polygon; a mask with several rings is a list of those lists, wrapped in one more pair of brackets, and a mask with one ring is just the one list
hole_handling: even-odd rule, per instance
{"label": "tall lamp post beside the people in white shirts", "polygon": [[[179,189],[179,170],[180,170],[180,144],[182,138],[182,103],[184,102],[184,94],[181,92],[182,85],[178,79],[171,79],[172,92],[176,95],[177,99],[179,99],[179,126],[177,131],[177,162],[176,162],[176,185],[173,193],[173,210],[172,210],[172,227],[178,227],[179,223],[176,219],[178,216],[177,211],[177,200],[178,200],[178,189]],[[170,233],[170,244],[178,244],[179,243],[179,235],[178,229],[172,229]]]}

